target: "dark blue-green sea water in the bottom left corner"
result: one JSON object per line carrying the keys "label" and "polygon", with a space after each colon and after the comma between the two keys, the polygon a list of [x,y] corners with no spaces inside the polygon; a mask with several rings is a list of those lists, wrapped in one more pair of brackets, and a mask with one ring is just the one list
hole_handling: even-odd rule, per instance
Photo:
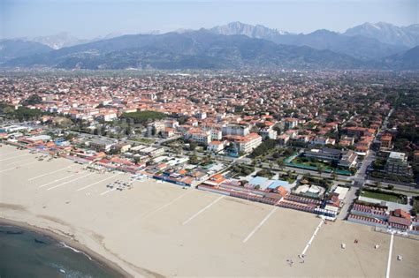
{"label": "dark blue-green sea water in the bottom left corner", "polygon": [[0,278],[120,276],[85,252],[51,237],[0,225]]}

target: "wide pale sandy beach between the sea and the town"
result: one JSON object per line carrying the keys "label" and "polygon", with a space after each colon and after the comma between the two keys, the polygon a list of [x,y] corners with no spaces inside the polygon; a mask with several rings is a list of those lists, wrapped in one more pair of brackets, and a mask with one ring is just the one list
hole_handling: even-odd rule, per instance
{"label": "wide pale sandy beach between the sea and the town", "polygon": [[[106,185],[131,175],[90,172],[65,159],[40,162],[39,155],[0,148],[0,217],[49,230],[123,275],[386,274],[391,236],[371,227],[327,222],[299,259],[321,222],[316,215],[154,180],[119,191]],[[415,277],[417,266],[419,241],[394,237],[389,276]]]}

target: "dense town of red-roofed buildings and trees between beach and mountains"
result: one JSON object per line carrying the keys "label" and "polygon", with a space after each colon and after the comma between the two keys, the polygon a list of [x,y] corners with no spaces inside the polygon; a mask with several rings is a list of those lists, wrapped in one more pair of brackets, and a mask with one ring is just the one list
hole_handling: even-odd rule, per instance
{"label": "dense town of red-roofed buildings and trees between beach and mountains", "polygon": [[416,73],[131,73],[5,74],[3,144],[419,234]]}

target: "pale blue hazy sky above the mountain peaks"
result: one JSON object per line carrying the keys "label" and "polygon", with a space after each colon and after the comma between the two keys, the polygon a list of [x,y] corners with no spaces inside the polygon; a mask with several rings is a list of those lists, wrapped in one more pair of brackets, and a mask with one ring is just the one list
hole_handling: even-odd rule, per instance
{"label": "pale blue hazy sky above the mountain peaks", "polygon": [[419,0],[0,0],[0,36],[23,37],[67,31],[80,38],[110,33],[223,25],[262,24],[293,33],[345,31],[364,22],[398,26],[419,23]]}

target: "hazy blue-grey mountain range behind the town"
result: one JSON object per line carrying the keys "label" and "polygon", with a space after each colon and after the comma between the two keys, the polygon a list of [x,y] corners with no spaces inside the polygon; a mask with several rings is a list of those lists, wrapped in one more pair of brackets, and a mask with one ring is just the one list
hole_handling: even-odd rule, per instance
{"label": "hazy blue-grey mountain range behind the town", "polygon": [[[371,27],[372,26],[372,27]],[[68,34],[0,41],[0,66],[64,69],[419,70],[419,25],[365,23],[339,34],[292,34],[232,22],[210,29],[75,41]],[[65,44],[63,38],[69,42]],[[70,40],[72,39],[72,40]],[[36,42],[35,42],[36,41]],[[49,46],[43,45],[44,42]],[[55,41],[55,42],[54,42]],[[13,43],[19,48],[13,48]],[[76,45],[73,45],[76,44]],[[68,47],[63,47],[68,45]],[[14,50],[11,50],[14,49]]]}

